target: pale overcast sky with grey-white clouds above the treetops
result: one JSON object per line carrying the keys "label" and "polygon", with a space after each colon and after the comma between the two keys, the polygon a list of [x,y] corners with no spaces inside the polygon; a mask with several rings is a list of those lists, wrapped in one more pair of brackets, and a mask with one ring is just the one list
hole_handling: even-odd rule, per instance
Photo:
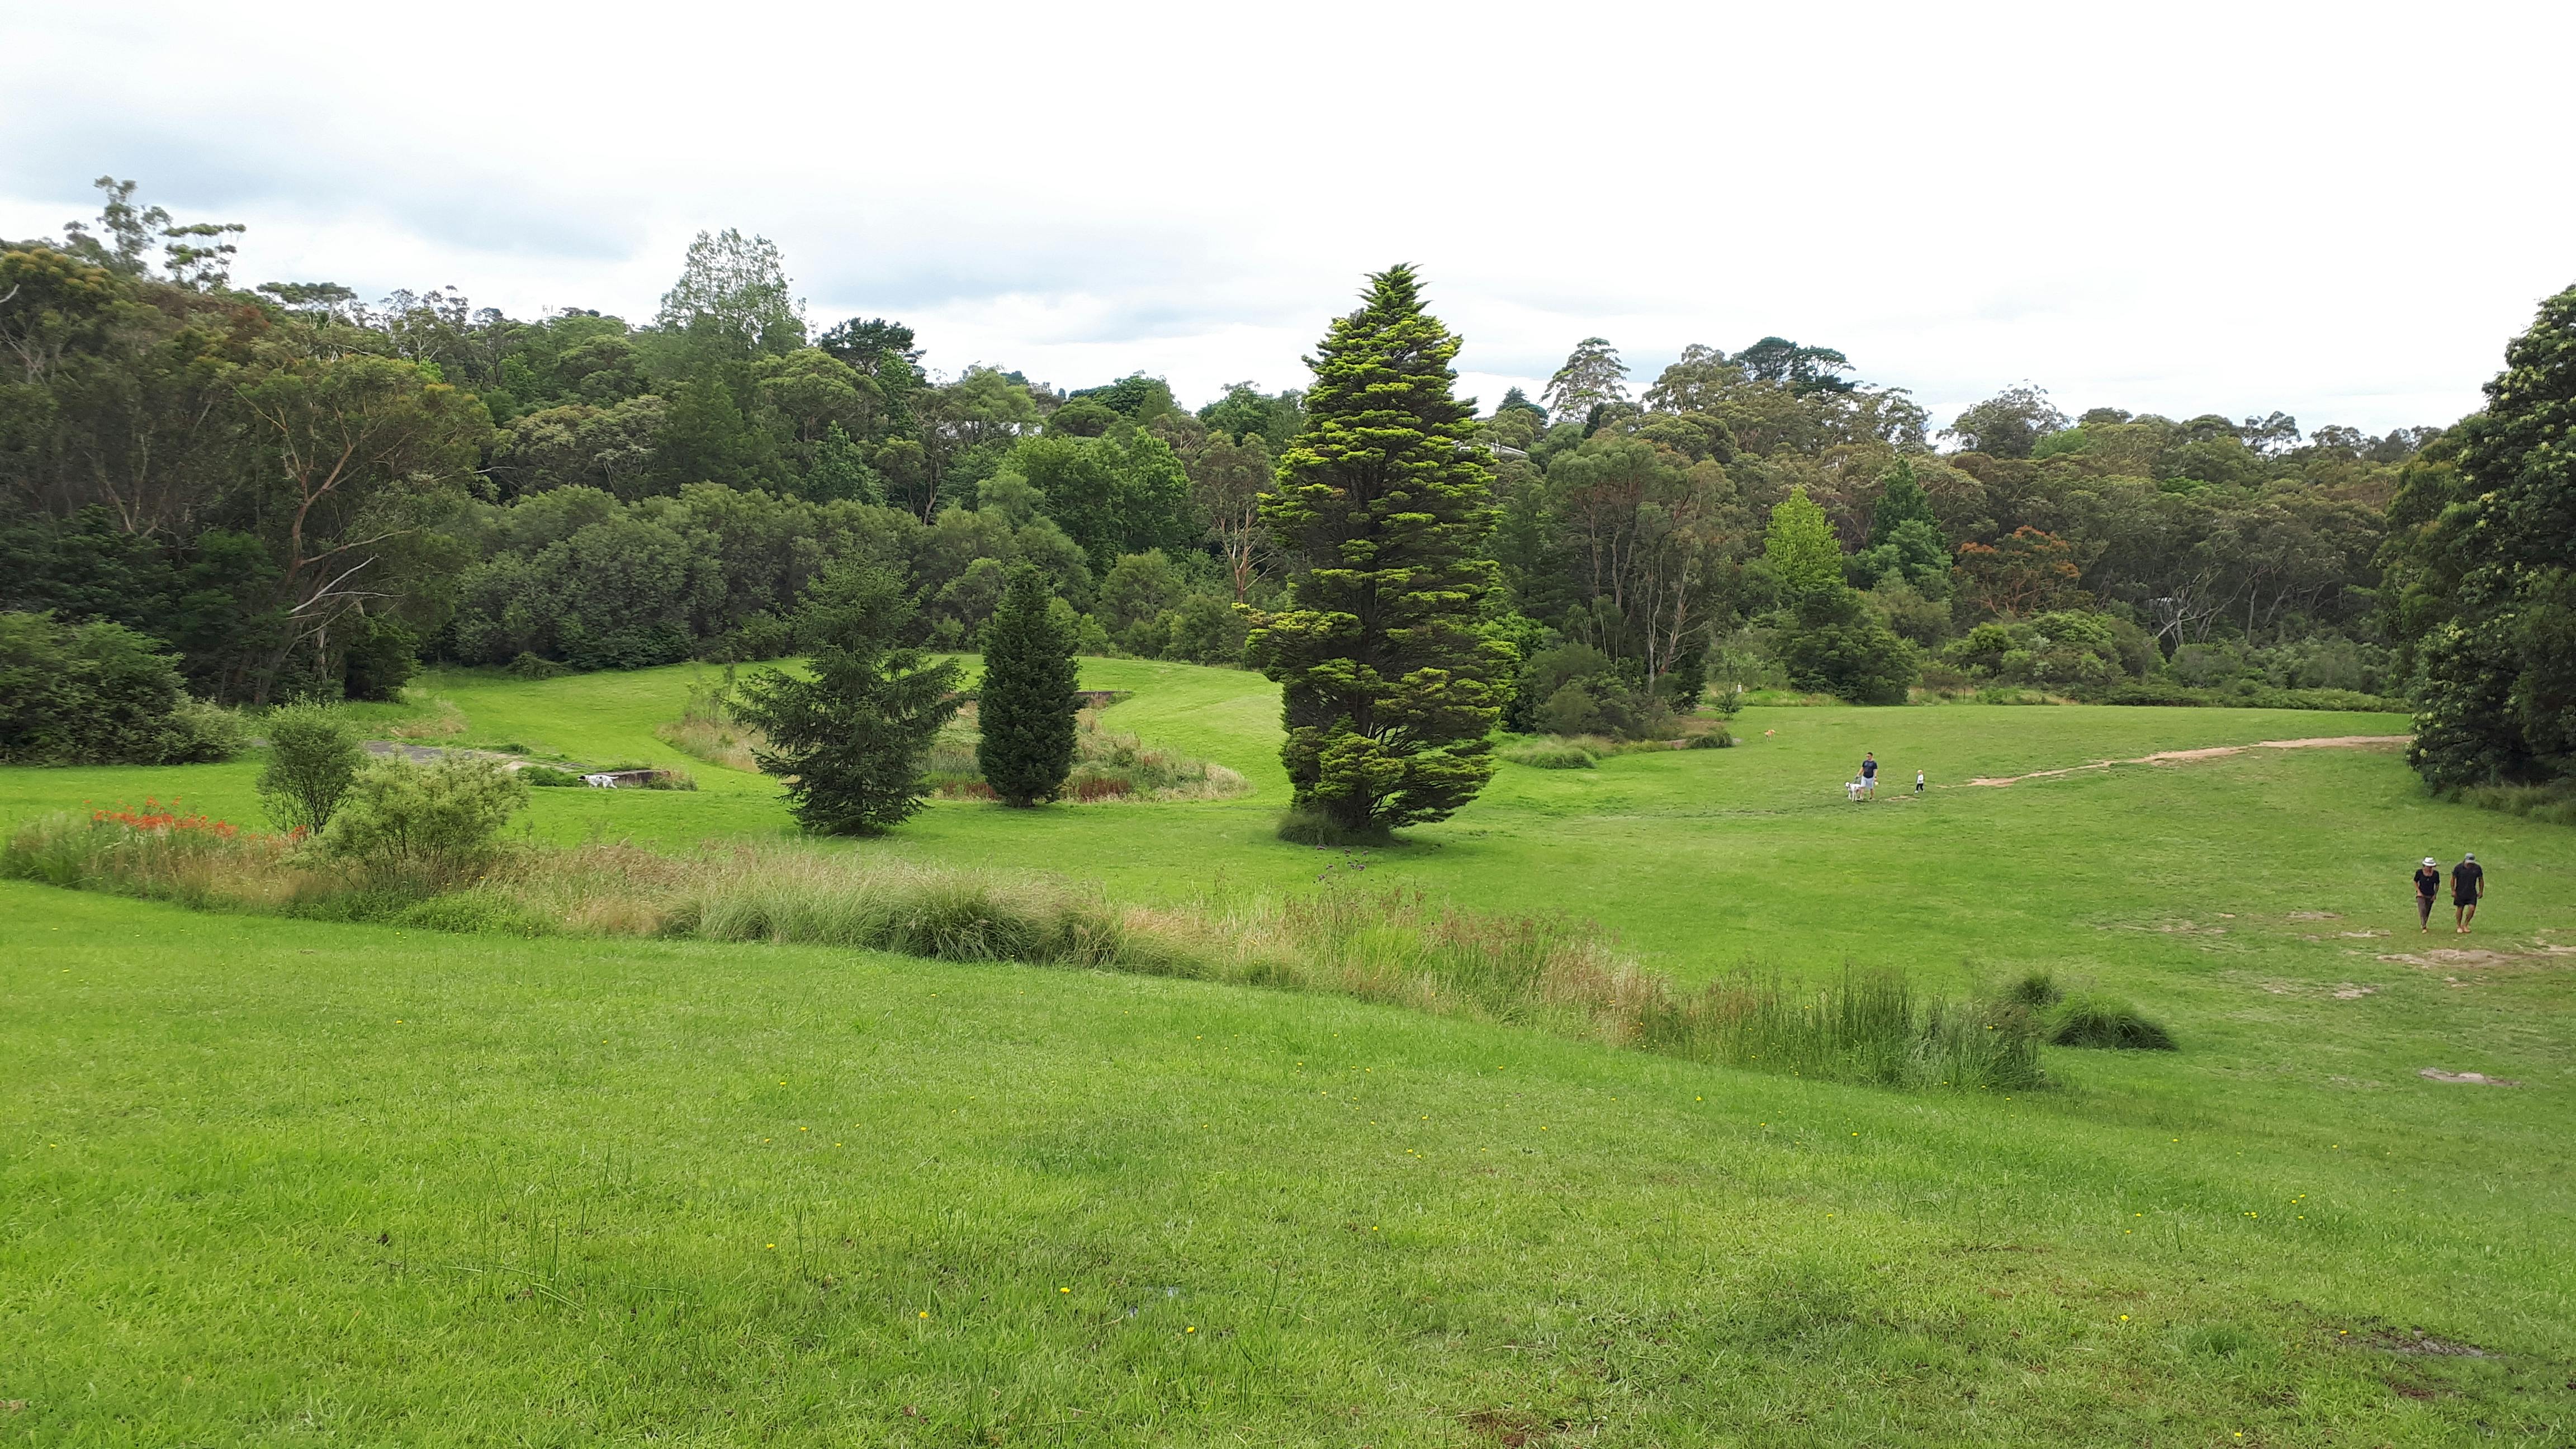
{"label": "pale overcast sky with grey-white clouds above the treetops", "polygon": [[817,325],[1198,402],[1412,260],[1466,389],[1842,348],[1947,420],[2450,423],[2576,284],[2576,5],[0,8],[0,237],[142,180],[234,281],[647,320],[701,227]]}

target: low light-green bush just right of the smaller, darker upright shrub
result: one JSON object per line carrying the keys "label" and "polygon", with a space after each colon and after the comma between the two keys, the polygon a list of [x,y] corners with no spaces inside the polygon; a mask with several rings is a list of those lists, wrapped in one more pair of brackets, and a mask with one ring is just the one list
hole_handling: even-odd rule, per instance
{"label": "low light-green bush just right of the smaller, darker upright shrub", "polygon": [[523,804],[528,784],[500,761],[374,761],[322,830],[322,851],[379,879],[438,887],[492,864],[500,828]]}

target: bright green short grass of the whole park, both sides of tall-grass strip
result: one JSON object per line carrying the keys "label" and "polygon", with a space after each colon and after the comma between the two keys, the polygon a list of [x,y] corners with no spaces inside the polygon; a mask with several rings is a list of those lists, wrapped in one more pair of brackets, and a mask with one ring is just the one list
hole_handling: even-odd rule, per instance
{"label": "bright green short grass of the whole park, both sides of tall-grass strip", "polygon": [[[2403,719],[1752,709],[1736,750],[1507,766],[1342,856],[1267,835],[1260,678],[1084,676],[1255,794],[943,802],[848,848],[1118,900],[1394,879],[1685,980],[2050,967],[2184,1049],[1904,1096],[1193,982],[8,884],[0,1444],[2576,1441],[2576,833],[2385,750],[1963,784]],[[652,735],[685,683],[451,673],[410,714],[701,781],[536,792],[546,838],[781,833]],[[1865,748],[1937,789],[1847,804]],[[255,820],[255,771],[0,771],[0,817]],[[2414,933],[2409,866],[2463,848],[2491,957]]]}

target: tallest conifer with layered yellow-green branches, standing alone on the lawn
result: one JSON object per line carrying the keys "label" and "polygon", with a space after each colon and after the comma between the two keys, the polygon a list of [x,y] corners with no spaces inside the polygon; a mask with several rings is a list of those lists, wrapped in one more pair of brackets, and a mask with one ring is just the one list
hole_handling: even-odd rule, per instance
{"label": "tallest conifer with layered yellow-green branches, standing alone on the lawn", "polygon": [[1293,810],[1350,838],[1445,820],[1494,776],[1512,660],[1476,627],[1492,472],[1453,356],[1414,268],[1376,273],[1309,358],[1306,431],[1262,500],[1291,606],[1255,621],[1249,657],[1283,686]]}

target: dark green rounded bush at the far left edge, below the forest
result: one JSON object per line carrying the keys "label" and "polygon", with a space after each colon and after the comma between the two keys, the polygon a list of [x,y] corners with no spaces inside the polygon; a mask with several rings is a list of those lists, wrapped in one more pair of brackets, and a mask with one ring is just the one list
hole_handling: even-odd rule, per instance
{"label": "dark green rounded bush at the far left edge, below the forest", "polygon": [[157,639],[0,614],[0,763],[193,766],[240,748],[240,722],[188,699]]}

